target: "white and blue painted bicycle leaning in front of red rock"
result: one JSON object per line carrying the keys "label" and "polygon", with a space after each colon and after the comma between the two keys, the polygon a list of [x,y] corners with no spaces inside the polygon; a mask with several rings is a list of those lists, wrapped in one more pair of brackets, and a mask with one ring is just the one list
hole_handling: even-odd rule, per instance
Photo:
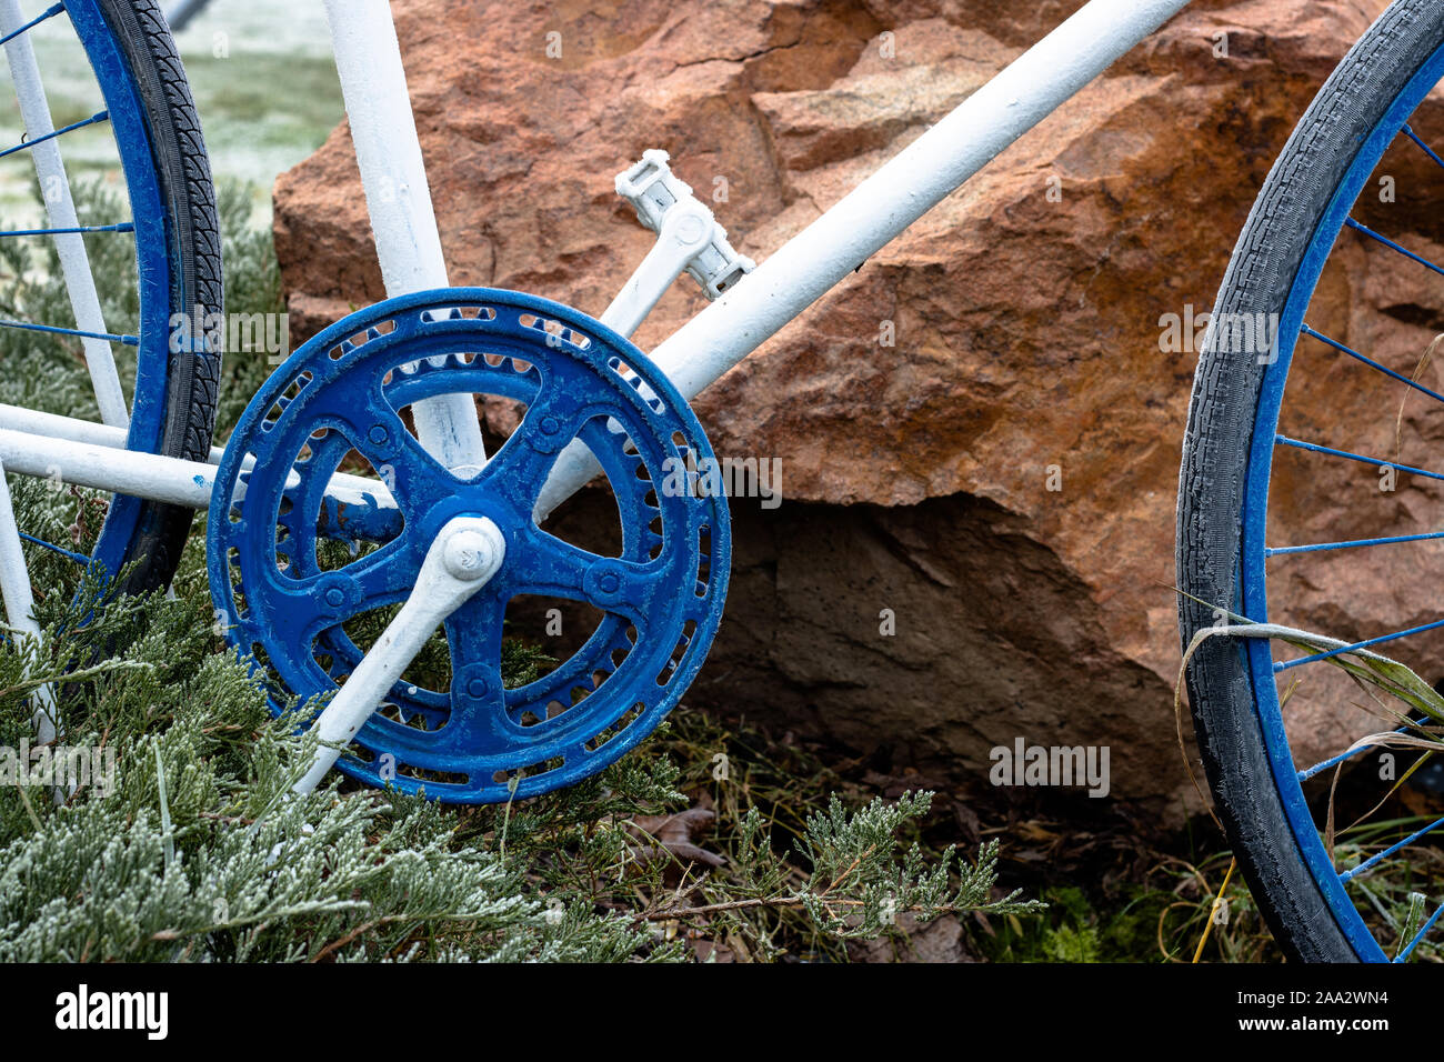
{"label": "white and blue painted bicycle leaning in front of red rock", "polygon": [[[332,766],[458,802],[573,783],[635,747],[677,704],[721,621],[728,511],[687,402],[1186,6],[1092,0],[761,264],[736,254],[664,155],[647,153],[618,178],[618,192],[658,243],[593,319],[530,295],[448,286],[390,12],[384,0],[326,0],[388,298],[303,344],[254,396],[227,446],[212,449],[218,344],[205,318],[219,312],[214,194],[165,20],[152,0],[65,0],[29,19],[17,0],[0,0],[0,43],[27,129],[0,157],[35,157],[49,215],[43,227],[0,236],[53,240],[68,282],[74,273],[72,324],[0,321],[0,329],[79,344],[100,415],[97,423],[0,406],[0,464],[113,496],[98,540],[77,559],[127,592],[165,587],[192,511],[208,511],[212,595],[227,639],[253,660],[277,711],[296,699],[325,702],[313,724],[323,748],[300,787]],[[56,127],[30,38],[61,16],[105,105]],[[1366,887],[1370,873],[1419,851],[1444,819],[1422,829],[1392,824],[1357,863],[1336,865],[1330,826],[1315,822],[1305,785],[1380,743],[1300,770],[1287,698],[1272,681],[1427,634],[1444,620],[1328,642],[1288,660],[1274,659],[1269,637],[1240,636],[1272,630],[1271,558],[1444,536],[1282,548],[1264,536],[1269,444],[1375,461],[1278,432],[1300,338],[1444,402],[1304,322],[1344,228],[1444,272],[1349,212],[1395,140],[1444,168],[1408,123],[1441,78],[1444,10],[1421,0],[1398,0],[1343,59],[1274,168],[1216,306],[1216,322],[1278,325],[1261,357],[1216,324],[1190,407],[1180,630],[1186,646],[1200,631],[1229,634],[1193,646],[1194,725],[1259,906],[1288,954],[1304,959],[1382,959],[1386,945],[1408,958],[1444,912],[1425,920],[1411,899],[1401,918]],[[85,225],[58,142],[98,126],[113,130],[131,220]],[[87,238],[127,234],[142,279],[133,332],[107,327],[94,285],[85,286]],[[712,302],[644,354],[627,337],[683,272]],[[136,358],[129,409],[117,348]],[[524,407],[494,454],[477,394]],[[544,530],[599,472],[619,509],[614,553]],[[12,627],[35,639],[23,539],[0,490],[0,585]],[[338,556],[336,542],[367,549]],[[576,601],[602,618],[556,670],[513,689],[498,666],[503,617],[524,594]],[[367,644],[352,621],[377,611],[386,629]],[[449,668],[419,676],[409,670],[413,657],[438,644],[438,629]],[[38,698],[42,738],[52,708],[51,695]],[[1404,718],[1401,730],[1431,735],[1428,720]],[[1350,886],[1365,892],[1352,896]]]}

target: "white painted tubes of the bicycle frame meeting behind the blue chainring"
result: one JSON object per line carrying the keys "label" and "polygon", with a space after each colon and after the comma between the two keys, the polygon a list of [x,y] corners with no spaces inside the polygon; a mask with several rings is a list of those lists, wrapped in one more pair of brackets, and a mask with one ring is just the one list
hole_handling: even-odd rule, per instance
{"label": "white painted tubes of the bicycle frame meeting behind the blue chainring", "polygon": [[[387,295],[446,288],[390,6],[323,3]],[[684,397],[695,397],[1187,4],[1090,0],[679,328],[651,353],[653,361]],[[417,435],[448,467],[485,462],[469,396],[429,399],[417,413]],[[126,432],[116,425],[0,406],[0,468],[195,509],[209,504],[219,449],[202,464],[124,446]],[[585,446],[565,449],[539,516],[596,471]],[[394,504],[381,483],[360,477],[336,475],[328,493],[348,501],[367,493],[381,506]],[[0,538],[9,538],[6,523],[13,526],[0,519]],[[16,578],[6,575],[7,582]]]}

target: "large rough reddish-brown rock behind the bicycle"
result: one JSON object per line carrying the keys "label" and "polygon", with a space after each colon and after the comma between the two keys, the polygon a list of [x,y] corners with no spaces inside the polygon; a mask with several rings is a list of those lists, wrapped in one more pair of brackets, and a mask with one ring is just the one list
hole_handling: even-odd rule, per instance
{"label": "large rough reddish-brown rock behind the bicycle", "polygon": [[[644,149],[725,186],[761,260],[1079,6],[393,4],[452,282],[592,314],[651,246],[612,191]],[[1212,305],[1294,121],[1383,6],[1188,9],[699,399],[721,454],[781,459],[786,500],[734,501],[729,621],[693,701],[960,782],[1018,735],[1106,744],[1115,796],[1187,795],[1173,513],[1196,358],[1160,350],[1160,318]],[[293,334],[383,298],[345,126],[277,181],[276,246]],[[1343,331],[1396,290],[1356,273],[1326,293]],[[680,282],[640,345],[702,305]],[[1340,578],[1298,582],[1291,618],[1383,623],[1359,603],[1383,569]],[[1320,747],[1340,704],[1313,709]]]}

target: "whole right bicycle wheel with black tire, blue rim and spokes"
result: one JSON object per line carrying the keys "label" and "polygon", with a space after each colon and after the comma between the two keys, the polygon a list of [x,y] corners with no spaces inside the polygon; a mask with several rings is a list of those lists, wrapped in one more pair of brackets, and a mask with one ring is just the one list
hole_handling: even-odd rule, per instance
{"label": "whole right bicycle wheel with black tire, blue rim and spokes", "polygon": [[[1441,621],[1421,600],[1440,559],[1440,497],[1427,470],[1444,462],[1428,458],[1435,410],[1417,400],[1405,418],[1401,405],[1412,392],[1444,405],[1415,379],[1444,331],[1444,302],[1415,290],[1411,272],[1444,272],[1431,199],[1444,159],[1430,146],[1444,137],[1440,98],[1430,101],[1441,78],[1435,0],[1398,0],[1334,71],[1239,237],[1188,410],[1177,575],[1197,600],[1180,597],[1184,644],[1223,611],[1339,639],[1298,649],[1210,637],[1188,669],[1216,808],[1295,959],[1408,958],[1432,948],[1441,910],[1444,819],[1428,806],[1438,792],[1418,785],[1422,773],[1396,785],[1405,767],[1393,779],[1375,770],[1383,760],[1370,753],[1382,746],[1349,748],[1412,722],[1357,711],[1354,702],[1388,718],[1383,699],[1350,689],[1328,663],[1344,657],[1343,644],[1389,653],[1428,681],[1444,675]],[[1370,301],[1382,312],[1365,312]],[[1248,342],[1251,328],[1268,342]],[[1406,487],[1393,490],[1393,477]],[[1386,623],[1388,605],[1404,614]],[[1375,798],[1383,811],[1353,822]],[[1415,890],[1430,897],[1428,919],[1415,916]]]}

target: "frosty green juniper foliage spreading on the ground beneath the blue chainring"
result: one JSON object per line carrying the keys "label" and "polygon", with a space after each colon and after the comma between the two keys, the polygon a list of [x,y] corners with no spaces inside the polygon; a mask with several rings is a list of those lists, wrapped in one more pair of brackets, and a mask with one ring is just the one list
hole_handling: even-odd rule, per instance
{"label": "frosty green juniper foliage spreading on the ground beneath the blue chainring", "polygon": [[[193,587],[198,572],[185,575]],[[111,750],[117,783],[61,805],[45,787],[0,787],[0,961],[676,959],[686,952],[664,923],[677,920],[778,958],[786,944],[751,920],[778,909],[843,939],[887,932],[902,912],[1035,907],[991,897],[996,842],[976,865],[902,848],[927,793],[853,812],[833,798],[793,852],[751,806],[726,873],[689,868],[693,887],[679,890],[677,861],[641,854],[637,829],[687,799],[657,748],[504,808],[443,809],[339,779],[293,798],[312,740],[297,714],[271,718],[205,623],[204,595],[111,600],[82,585],[43,611],[43,657],[0,646],[0,741],[25,740],[27,694],[68,673],[66,743]],[[87,663],[97,646],[107,656]]]}

